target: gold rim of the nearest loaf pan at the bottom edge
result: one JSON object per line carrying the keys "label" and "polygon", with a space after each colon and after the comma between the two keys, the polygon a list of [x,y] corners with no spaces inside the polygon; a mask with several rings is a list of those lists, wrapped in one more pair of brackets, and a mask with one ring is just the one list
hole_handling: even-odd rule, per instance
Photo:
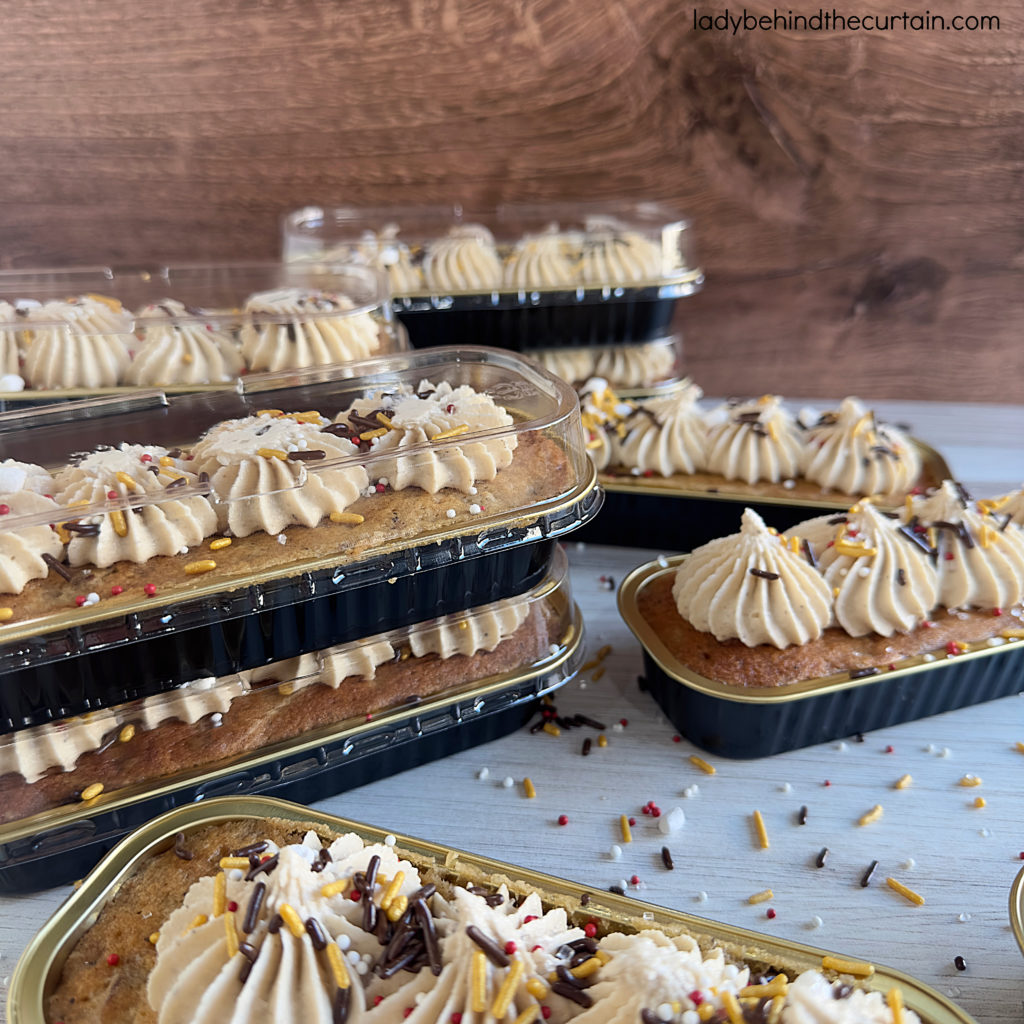
{"label": "gold rim of the nearest loaf pan at the bottom edge", "polygon": [[[18,961],[7,1001],[9,1024],[44,1024],[47,997],[76,941],[92,926],[123,883],[150,858],[168,851],[176,842],[187,844],[189,834],[196,828],[266,819],[284,824],[294,822],[296,829],[312,828],[332,835],[355,833],[366,843],[383,843],[393,836],[396,851],[431,880],[436,880],[438,886],[498,887],[504,884],[514,896],[537,892],[546,907],[564,907],[570,921],[580,927],[593,922],[598,934],[649,928],[660,929],[669,935],[686,934],[705,950],[719,946],[728,957],[749,964],[755,971],[770,968],[772,973],[821,970],[823,958],[833,955],[823,949],[641,903],[307,807],[265,798],[224,798],[181,808],[151,821],[96,866],[30,942]],[[182,834],[183,840],[178,838]],[[160,922],[154,923],[154,928],[159,926]],[[918,1014],[923,1024],[973,1024],[973,1019],[964,1011],[916,979],[886,967],[872,966],[870,977],[858,984],[883,994],[893,988],[899,989],[903,1005]]]}

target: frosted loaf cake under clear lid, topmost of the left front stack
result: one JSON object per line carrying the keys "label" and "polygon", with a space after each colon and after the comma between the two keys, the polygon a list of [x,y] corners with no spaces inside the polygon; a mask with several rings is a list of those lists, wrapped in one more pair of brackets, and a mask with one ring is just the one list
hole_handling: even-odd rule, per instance
{"label": "frosted loaf cake under clear lid, topmost of the left front stack", "polygon": [[[188,596],[199,577],[208,590],[254,573],[287,579],[439,529],[476,532],[484,513],[528,512],[570,486],[574,470],[558,440],[514,428],[487,394],[422,381],[374,389],[333,420],[261,410],[214,425],[190,449],[80,453],[53,467],[52,482],[41,467],[0,464],[0,540],[26,549],[17,579],[0,579],[0,641],[4,624],[45,630],[100,601],[117,614]],[[44,503],[31,516],[31,500],[10,495],[30,487]]]}

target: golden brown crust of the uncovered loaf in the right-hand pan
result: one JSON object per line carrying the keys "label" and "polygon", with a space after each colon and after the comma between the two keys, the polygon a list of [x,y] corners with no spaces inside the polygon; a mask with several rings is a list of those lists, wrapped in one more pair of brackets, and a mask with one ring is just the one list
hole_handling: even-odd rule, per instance
{"label": "golden brown crust of the uncovered loaf in the right-hand pan", "polygon": [[674,575],[665,573],[641,590],[637,598],[641,617],[679,662],[707,679],[731,686],[782,686],[858,669],[884,669],[900,658],[941,650],[950,641],[985,640],[1008,625],[1005,616],[991,611],[950,614],[937,609],[932,626],[912,633],[852,637],[833,628],[799,647],[748,647],[739,640],[720,641],[695,630],[676,608],[673,582]]}

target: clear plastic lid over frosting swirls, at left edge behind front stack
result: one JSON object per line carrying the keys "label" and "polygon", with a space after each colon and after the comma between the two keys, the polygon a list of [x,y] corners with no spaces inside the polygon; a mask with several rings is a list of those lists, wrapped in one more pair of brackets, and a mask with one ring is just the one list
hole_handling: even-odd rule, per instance
{"label": "clear plastic lid over frosting swirls, at left edge behind front stack", "polygon": [[0,397],[224,387],[404,347],[383,274],[342,263],[0,272]]}

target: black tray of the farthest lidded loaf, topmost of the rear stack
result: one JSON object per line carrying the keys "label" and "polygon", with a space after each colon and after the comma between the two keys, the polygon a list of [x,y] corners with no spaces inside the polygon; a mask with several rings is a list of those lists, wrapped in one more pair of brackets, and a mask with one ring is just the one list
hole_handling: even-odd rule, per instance
{"label": "black tray of the farthest lidded loaf, topmost of the rear stack", "polygon": [[416,348],[494,345],[538,348],[638,344],[670,332],[676,302],[699,284],[672,287],[486,293],[396,298],[394,311]]}

